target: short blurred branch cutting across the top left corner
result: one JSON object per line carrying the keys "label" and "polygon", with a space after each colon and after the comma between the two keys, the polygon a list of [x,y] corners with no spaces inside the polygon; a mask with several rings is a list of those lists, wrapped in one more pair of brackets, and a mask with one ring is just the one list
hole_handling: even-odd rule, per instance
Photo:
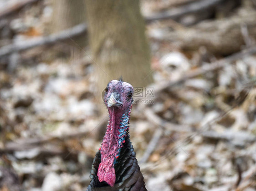
{"label": "short blurred branch cutting across the top left corner", "polygon": [[2,19],[5,16],[10,15],[11,13],[20,10],[22,7],[32,4],[32,3],[36,3],[39,0],[19,0],[15,3],[13,3],[12,5],[9,5],[8,7],[3,7],[0,10],[0,19]]}

